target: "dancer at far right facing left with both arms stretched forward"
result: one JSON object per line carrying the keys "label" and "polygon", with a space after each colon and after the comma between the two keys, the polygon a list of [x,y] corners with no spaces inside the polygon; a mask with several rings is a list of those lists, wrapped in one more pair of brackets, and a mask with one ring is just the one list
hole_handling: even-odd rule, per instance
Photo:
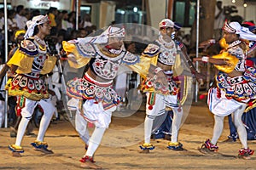
{"label": "dancer at far right facing left with both arms stretched forward", "polygon": [[202,152],[218,150],[217,142],[224,128],[224,116],[233,114],[241,150],[238,156],[250,159],[253,150],[247,146],[247,131],[241,122],[241,116],[247,102],[255,98],[255,68],[246,66],[247,44],[244,40],[255,41],[256,36],[238,22],[225,21],[224,36],[220,44],[224,49],[212,57],[195,58],[195,61],[210,62],[218,69],[217,88],[210,88],[208,105],[214,114],[212,139],[202,144]]}

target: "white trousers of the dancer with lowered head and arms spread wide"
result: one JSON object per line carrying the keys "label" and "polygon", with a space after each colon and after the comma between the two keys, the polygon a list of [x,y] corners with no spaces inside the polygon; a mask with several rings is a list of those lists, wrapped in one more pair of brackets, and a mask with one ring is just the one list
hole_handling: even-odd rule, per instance
{"label": "white trousers of the dancer with lowered head and arms spread wide", "polygon": [[[116,109],[113,107],[107,111],[103,109],[102,103],[96,103],[94,99],[88,99],[83,104],[82,113],[79,110],[79,99],[70,99],[67,102],[67,107],[71,111],[76,111],[76,130],[85,144],[88,144],[88,149],[85,156],[93,156],[98,146],[101,144],[103,134],[111,122],[112,111]],[[87,130],[87,122],[95,124],[95,130],[89,136]]]}

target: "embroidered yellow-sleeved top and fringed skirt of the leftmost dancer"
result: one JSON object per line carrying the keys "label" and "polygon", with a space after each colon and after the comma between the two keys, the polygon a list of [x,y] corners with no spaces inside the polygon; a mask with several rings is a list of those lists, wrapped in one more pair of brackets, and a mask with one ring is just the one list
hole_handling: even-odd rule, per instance
{"label": "embroidered yellow-sleeved top and fringed skirt of the leftmost dancer", "polygon": [[52,71],[55,61],[55,57],[49,56],[47,48],[37,42],[37,37],[21,42],[20,48],[7,63],[9,67],[19,66],[13,80],[7,83],[9,95],[24,96],[32,100],[48,99],[45,82],[39,76]]}

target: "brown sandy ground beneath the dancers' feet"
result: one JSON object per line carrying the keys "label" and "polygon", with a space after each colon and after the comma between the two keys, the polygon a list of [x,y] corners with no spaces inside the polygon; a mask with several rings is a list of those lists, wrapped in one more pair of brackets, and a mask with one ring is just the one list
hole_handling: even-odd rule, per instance
{"label": "brown sandy ground beneath the dancers' feet", "polygon": [[[227,119],[223,135],[218,142],[219,152],[225,156],[206,156],[198,151],[202,142],[212,136],[213,119],[205,104],[192,105],[189,116],[181,127],[179,141],[183,143],[185,151],[168,150],[168,141],[157,139],[152,141],[155,145],[152,152],[139,153],[138,146],[143,143],[143,128],[138,124],[143,123],[144,116],[143,111],[125,118],[113,116],[103,144],[96,150],[97,165],[104,169],[256,169],[256,156],[252,156],[251,160],[238,159],[236,155],[241,144],[224,142],[229,134]],[[123,127],[132,129],[131,134],[119,131]],[[134,131],[141,136],[137,136]],[[37,132],[38,129],[35,128],[34,133]],[[0,169],[81,169],[79,158],[84,155],[84,143],[79,139],[72,123],[64,120],[51,123],[45,141],[48,142],[49,149],[54,150],[53,155],[44,155],[32,150],[30,143],[34,139],[35,137],[25,136],[22,141],[25,152],[20,158],[13,157],[8,144],[14,144],[15,138],[9,137],[9,129],[0,129]],[[249,141],[248,144],[256,150],[255,141]]]}

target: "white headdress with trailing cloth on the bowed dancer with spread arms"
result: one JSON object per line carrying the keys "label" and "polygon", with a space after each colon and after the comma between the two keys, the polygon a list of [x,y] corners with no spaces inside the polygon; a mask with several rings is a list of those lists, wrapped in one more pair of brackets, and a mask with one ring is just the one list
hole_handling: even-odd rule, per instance
{"label": "white headdress with trailing cloth on the bowed dancer with spread arms", "polygon": [[78,38],[78,42],[82,43],[107,43],[109,37],[125,37],[125,28],[108,26],[108,29],[103,31],[101,35],[96,37]]}

